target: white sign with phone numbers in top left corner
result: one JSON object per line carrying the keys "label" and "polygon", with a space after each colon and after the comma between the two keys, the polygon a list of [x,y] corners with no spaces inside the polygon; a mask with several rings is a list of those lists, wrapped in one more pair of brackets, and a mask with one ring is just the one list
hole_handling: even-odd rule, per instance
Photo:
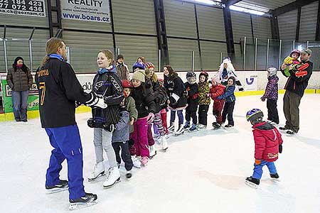
{"label": "white sign with phone numbers in top left corner", "polygon": [[0,13],[46,17],[45,0],[0,0]]}

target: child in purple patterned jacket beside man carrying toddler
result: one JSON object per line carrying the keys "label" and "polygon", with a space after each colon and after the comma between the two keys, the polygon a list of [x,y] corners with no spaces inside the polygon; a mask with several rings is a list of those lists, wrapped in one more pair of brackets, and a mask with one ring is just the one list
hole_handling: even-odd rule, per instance
{"label": "child in purple patterned jacket beside man carrying toddler", "polygon": [[265,102],[265,99],[267,99],[268,120],[274,124],[279,124],[277,110],[279,77],[277,77],[277,68],[270,67],[267,71],[267,87],[265,87],[265,94],[261,97],[261,100],[262,102]]}

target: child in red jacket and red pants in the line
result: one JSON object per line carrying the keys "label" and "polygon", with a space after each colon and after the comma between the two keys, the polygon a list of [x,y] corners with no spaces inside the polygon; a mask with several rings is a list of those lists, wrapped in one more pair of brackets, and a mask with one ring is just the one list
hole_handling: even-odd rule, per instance
{"label": "child in red jacket and red pants in the line", "polygon": [[217,99],[219,95],[222,95],[225,92],[225,86],[219,83],[219,76],[214,75],[211,78],[210,93],[208,94],[209,97],[213,99],[213,115],[215,116],[215,122],[212,123],[213,129],[219,129],[222,121],[221,112],[223,110],[223,105],[225,104],[224,99]]}

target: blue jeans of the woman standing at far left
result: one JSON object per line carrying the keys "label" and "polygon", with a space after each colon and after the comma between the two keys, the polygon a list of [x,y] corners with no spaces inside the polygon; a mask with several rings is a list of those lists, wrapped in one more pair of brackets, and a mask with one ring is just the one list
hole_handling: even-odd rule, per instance
{"label": "blue jeans of the woman standing at far left", "polygon": [[12,103],[14,104],[14,119],[24,121],[27,119],[26,111],[28,106],[28,94],[26,91],[12,91]]}

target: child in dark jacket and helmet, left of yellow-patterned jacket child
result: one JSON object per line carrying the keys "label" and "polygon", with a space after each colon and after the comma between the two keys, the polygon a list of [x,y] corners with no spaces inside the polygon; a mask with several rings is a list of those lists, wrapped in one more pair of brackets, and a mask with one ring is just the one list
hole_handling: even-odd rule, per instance
{"label": "child in dark jacket and helmet, left of yellow-patterned jacket child", "polygon": [[[198,109],[198,84],[196,83],[197,77],[194,72],[187,72],[186,79],[188,82],[184,83],[187,91],[187,103],[186,107],[186,124],[184,124],[183,129],[189,129],[189,131],[196,130],[197,124],[197,109]],[[192,118],[192,125],[190,126],[190,121]]]}

